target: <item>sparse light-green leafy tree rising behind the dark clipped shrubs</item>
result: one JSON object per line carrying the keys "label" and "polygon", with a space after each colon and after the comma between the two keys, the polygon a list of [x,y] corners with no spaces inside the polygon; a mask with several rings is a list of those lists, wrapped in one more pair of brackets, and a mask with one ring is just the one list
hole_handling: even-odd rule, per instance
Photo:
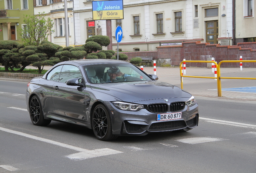
{"label": "sparse light-green leafy tree rising behind the dark clipped shrubs", "polygon": [[46,14],[40,13],[37,16],[24,15],[24,23],[27,24],[19,30],[22,41],[27,45],[38,46],[47,40],[48,36],[54,32],[54,23],[50,18],[45,18]]}

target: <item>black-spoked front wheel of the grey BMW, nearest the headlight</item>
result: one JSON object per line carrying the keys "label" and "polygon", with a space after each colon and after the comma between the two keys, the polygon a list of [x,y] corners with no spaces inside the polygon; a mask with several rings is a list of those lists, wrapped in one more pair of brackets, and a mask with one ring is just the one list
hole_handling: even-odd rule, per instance
{"label": "black-spoked front wheel of the grey BMW, nearest the headlight", "polygon": [[112,134],[112,125],[107,108],[99,104],[95,107],[92,116],[94,135],[101,141],[109,141],[117,137]]}

